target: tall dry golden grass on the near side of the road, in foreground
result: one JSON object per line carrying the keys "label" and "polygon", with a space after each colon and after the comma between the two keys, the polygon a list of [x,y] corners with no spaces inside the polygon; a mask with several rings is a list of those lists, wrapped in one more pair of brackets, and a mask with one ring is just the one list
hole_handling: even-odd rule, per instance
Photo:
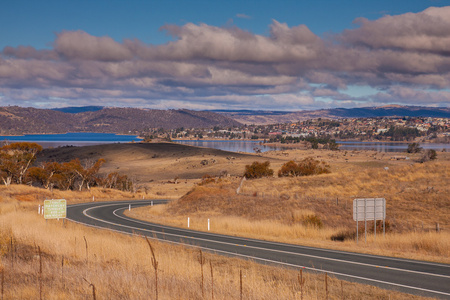
{"label": "tall dry golden grass on the near side of the road, in foreground", "polygon": [[[13,199],[15,200],[15,199]],[[17,200],[16,200],[17,201]],[[5,201],[0,203],[3,207]],[[33,204],[33,205],[31,205]],[[2,212],[0,269],[4,299],[155,299],[152,256],[146,241],[62,221],[45,221],[37,202]],[[87,248],[86,248],[86,244]],[[202,299],[199,252],[151,240],[158,268],[159,299]],[[42,253],[39,273],[38,248]],[[87,251],[86,251],[87,250]],[[298,271],[262,266],[203,253],[205,298],[300,299]],[[304,299],[325,298],[324,275],[304,273]],[[40,281],[41,280],[41,281]],[[393,291],[328,278],[330,299],[420,299]]]}

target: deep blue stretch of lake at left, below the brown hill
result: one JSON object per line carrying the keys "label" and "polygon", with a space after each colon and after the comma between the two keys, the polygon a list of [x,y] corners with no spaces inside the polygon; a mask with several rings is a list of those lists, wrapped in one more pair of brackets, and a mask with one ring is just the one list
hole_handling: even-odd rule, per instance
{"label": "deep blue stretch of lake at left, below the brown hill", "polygon": [[86,146],[106,143],[127,143],[140,141],[136,135],[114,133],[70,132],[65,134],[26,134],[23,136],[0,136],[0,141],[36,142],[43,147]]}

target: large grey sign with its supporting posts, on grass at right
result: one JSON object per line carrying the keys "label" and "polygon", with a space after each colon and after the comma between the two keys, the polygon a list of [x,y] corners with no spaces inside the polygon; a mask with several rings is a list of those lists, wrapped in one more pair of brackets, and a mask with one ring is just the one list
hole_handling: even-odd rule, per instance
{"label": "large grey sign with its supporting posts, on grass at right", "polygon": [[359,221],[364,221],[364,242],[367,243],[367,221],[373,220],[375,238],[377,237],[377,220],[383,220],[383,235],[386,235],[386,199],[361,198],[353,200],[353,220],[356,221],[356,243],[359,238]]}

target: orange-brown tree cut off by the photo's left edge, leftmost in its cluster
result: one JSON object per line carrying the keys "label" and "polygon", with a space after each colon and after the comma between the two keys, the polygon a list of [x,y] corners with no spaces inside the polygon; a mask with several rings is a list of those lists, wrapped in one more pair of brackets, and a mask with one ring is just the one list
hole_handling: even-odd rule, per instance
{"label": "orange-brown tree cut off by the photo's left edge, leftmost in its cluster", "polygon": [[5,185],[12,182],[22,184],[25,173],[42,151],[36,143],[20,142],[0,148],[0,176]]}

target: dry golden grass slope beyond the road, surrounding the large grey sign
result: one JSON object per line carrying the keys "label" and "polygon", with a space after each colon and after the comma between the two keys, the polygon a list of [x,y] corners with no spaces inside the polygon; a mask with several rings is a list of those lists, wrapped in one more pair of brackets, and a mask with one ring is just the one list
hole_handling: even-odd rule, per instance
{"label": "dry golden grass slope beyond the road, surrounding the large grey sign", "polygon": [[[295,153],[298,160],[307,155],[289,152],[290,157]],[[383,154],[371,152],[321,154],[319,159],[329,159],[331,174],[247,180],[240,195],[235,192],[238,180],[223,180],[197,187],[165,207],[140,208],[129,215],[180,227],[190,217],[191,228],[197,230],[206,230],[211,219],[211,230],[224,234],[450,262],[448,154],[439,153],[438,161],[424,164],[382,159]],[[357,197],[386,198],[386,238],[378,234],[374,240],[373,222],[368,222],[367,244],[356,246],[352,238],[331,241],[333,235],[355,235],[352,202]]]}

